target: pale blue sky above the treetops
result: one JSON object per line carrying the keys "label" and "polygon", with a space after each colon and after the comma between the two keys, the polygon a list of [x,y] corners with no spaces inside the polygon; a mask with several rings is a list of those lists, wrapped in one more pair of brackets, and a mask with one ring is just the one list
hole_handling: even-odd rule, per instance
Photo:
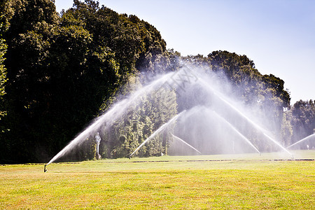
{"label": "pale blue sky above the treetops", "polygon": [[[72,0],[55,0],[57,11]],[[315,99],[315,1],[100,0],[154,25],[181,55],[214,50],[247,55],[262,74],[285,81],[291,104]]]}

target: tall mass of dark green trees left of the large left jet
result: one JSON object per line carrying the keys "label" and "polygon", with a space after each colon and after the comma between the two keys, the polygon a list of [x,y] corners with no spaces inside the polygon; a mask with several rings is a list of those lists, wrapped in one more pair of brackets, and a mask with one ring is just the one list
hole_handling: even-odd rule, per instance
{"label": "tall mass of dark green trees left of the large left jet", "polygon": [[144,63],[170,55],[155,27],[96,1],[74,1],[61,17],[50,0],[10,3],[3,160],[48,161],[139,66],[155,71]]}

